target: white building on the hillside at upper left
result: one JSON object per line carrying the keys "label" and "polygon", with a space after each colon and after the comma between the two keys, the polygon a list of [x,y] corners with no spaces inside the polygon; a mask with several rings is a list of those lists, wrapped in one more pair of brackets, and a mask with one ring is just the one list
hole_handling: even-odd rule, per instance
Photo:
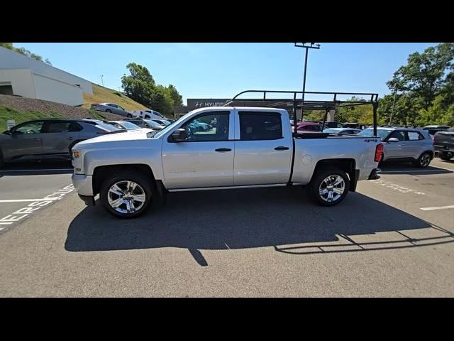
{"label": "white building on the hillside at upper left", "polygon": [[93,94],[92,82],[0,47],[0,94],[75,106],[84,104],[84,92]]}

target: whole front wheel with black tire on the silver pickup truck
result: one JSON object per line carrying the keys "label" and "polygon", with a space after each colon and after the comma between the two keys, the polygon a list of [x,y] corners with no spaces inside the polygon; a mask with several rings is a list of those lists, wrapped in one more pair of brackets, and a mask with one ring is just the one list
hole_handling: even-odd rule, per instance
{"label": "whole front wheel with black tire on the silver pickup truck", "polygon": [[153,196],[151,180],[139,171],[119,171],[101,185],[99,201],[116,217],[134,218],[143,214]]}

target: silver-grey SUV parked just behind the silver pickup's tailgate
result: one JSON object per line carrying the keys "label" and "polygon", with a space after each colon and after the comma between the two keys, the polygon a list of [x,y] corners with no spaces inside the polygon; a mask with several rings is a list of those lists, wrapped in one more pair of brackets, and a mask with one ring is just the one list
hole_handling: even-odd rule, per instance
{"label": "silver-grey SUV parked just behind the silver pickup's tailgate", "polygon": [[[433,159],[435,150],[426,130],[377,127],[377,135],[384,147],[382,161],[411,161],[416,167],[426,168]],[[374,136],[374,129],[364,129],[357,136]]]}

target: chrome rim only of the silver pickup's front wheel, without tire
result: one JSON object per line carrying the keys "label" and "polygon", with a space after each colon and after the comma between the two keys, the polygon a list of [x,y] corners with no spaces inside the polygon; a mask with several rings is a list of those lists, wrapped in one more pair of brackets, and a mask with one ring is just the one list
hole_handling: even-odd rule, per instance
{"label": "chrome rim only of the silver pickup's front wheel, without tire", "polygon": [[109,188],[107,200],[116,212],[133,213],[145,205],[145,190],[133,181],[118,181]]}

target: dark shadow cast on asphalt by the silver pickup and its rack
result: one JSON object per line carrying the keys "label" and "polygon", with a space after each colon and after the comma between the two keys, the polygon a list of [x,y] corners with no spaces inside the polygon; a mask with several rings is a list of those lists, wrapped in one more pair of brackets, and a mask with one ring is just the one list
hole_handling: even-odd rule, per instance
{"label": "dark shadow cast on asphalt by the silver pickup and its rack", "polygon": [[[200,251],[204,249],[275,247],[286,253],[311,254],[454,242],[451,232],[360,193],[349,193],[335,207],[316,206],[304,194],[301,188],[170,193],[167,205],[153,207],[134,220],[113,217],[97,202],[72,220],[65,249],[179,247],[189,249],[206,266]],[[433,230],[433,237],[419,240],[399,232],[414,229]],[[388,242],[380,237],[378,244],[354,240],[380,232],[392,232],[392,237]]]}

